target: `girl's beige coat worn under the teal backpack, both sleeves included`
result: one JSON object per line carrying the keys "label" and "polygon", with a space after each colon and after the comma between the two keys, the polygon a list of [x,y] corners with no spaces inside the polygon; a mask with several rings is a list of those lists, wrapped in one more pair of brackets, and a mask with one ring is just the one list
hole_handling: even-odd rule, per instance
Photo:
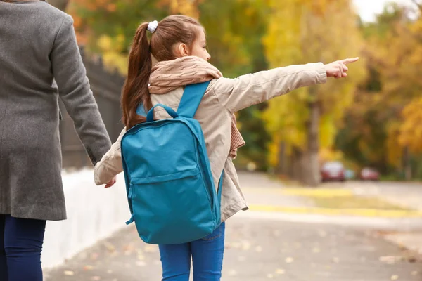
{"label": "girl's beige coat worn under the teal backpack, both sleeves included", "polygon": [[[326,70],[322,63],[290,65],[273,70],[246,74],[236,79],[219,78],[211,81],[201,101],[195,119],[202,126],[207,154],[210,159],[215,186],[224,169],[222,190],[222,221],[240,210],[248,209],[229,156],[231,143],[231,115],[243,108],[281,96],[301,86],[326,82]],[[162,95],[151,95],[153,105],[162,103],[177,110],[184,89],[179,88]],[[155,119],[170,116],[161,107],[155,109]],[[112,148],[94,168],[97,185],[105,184],[123,171],[120,154],[120,140],[123,129]]]}

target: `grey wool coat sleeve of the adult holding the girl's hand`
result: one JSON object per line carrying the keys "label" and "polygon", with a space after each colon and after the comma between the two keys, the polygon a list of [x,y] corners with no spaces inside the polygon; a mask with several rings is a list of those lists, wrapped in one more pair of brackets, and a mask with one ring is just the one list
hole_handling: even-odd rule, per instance
{"label": "grey wool coat sleeve of the adult holding the girl's hand", "polygon": [[50,54],[60,99],[72,118],[77,134],[95,165],[110,149],[111,141],[90,89],[77,45],[73,20],[66,15]]}

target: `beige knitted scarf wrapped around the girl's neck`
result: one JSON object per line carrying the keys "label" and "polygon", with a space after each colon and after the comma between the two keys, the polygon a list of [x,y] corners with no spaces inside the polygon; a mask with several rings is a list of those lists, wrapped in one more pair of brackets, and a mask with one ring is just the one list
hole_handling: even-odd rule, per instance
{"label": "beige knitted scarf wrapped around the girl's neck", "polygon": [[[149,91],[154,94],[165,94],[181,86],[196,84],[223,77],[216,67],[205,60],[187,56],[176,60],[156,63],[151,70]],[[241,132],[236,126],[236,117],[231,118],[230,156],[235,158],[238,148],[245,145]]]}

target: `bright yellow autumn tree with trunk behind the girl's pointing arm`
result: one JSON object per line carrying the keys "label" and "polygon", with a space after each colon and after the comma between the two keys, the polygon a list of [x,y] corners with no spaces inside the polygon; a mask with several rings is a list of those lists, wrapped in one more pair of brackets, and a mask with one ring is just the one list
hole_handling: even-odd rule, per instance
{"label": "bright yellow autumn tree with trunk behind the girl's pointing arm", "polygon": [[[362,37],[352,1],[272,0],[270,6],[264,44],[271,67],[359,55]],[[319,148],[333,146],[337,125],[364,77],[362,63],[350,68],[344,81],[298,89],[269,102],[264,119],[272,136],[273,164],[289,155],[290,174],[307,185],[319,183]]]}

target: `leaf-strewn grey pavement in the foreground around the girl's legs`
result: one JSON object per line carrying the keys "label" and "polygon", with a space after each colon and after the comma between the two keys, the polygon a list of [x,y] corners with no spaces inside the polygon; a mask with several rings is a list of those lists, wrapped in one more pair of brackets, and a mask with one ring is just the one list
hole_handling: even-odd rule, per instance
{"label": "leaf-strewn grey pavement in the foreground around the girl's legs", "polygon": [[[373,230],[239,216],[227,223],[226,281],[422,280],[422,262]],[[46,281],[158,281],[158,249],[127,227],[87,249]]]}

